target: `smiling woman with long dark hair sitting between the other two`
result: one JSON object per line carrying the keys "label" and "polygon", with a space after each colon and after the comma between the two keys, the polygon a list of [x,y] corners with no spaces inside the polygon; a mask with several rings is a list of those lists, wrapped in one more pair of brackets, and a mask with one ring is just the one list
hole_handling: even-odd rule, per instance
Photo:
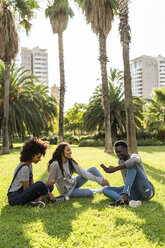
{"label": "smiling woman with long dark hair sitting between the other two", "polygon": [[[102,189],[80,189],[88,180],[105,186],[108,181],[103,178],[96,167],[88,170],[82,169],[71,157],[71,148],[68,143],[61,143],[55,149],[52,158],[48,162],[49,180],[55,180],[60,195],[67,197],[89,197]],[[78,174],[72,177],[72,174]]]}

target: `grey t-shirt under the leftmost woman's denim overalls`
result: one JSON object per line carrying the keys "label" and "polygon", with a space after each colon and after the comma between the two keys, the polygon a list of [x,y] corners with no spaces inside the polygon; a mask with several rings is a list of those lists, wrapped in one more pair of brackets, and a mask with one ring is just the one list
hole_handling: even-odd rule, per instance
{"label": "grey t-shirt under the leftmost woman's denim overalls", "polygon": [[[21,164],[19,164],[15,171],[14,171],[14,175],[16,173],[16,171],[19,169],[19,167],[21,166]],[[14,182],[11,184],[11,187],[9,189],[9,192],[15,192],[17,190],[19,190],[23,184],[22,182],[24,181],[29,181],[29,176],[30,176],[30,171],[32,173],[32,165],[28,166],[23,166],[20,171],[18,172],[18,174],[16,175]]]}

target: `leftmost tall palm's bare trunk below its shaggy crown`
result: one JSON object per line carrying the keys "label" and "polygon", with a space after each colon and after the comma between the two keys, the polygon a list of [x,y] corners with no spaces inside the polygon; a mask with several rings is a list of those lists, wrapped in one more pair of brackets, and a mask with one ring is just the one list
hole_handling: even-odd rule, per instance
{"label": "leftmost tall palm's bare trunk below its shaggy crown", "polygon": [[4,117],[2,127],[2,154],[9,152],[9,82],[10,82],[10,63],[5,63],[5,82],[4,82]]}

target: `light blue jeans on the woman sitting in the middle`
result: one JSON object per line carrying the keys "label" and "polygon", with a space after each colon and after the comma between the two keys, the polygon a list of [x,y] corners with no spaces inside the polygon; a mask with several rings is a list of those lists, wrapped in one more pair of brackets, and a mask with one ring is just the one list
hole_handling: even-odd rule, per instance
{"label": "light blue jeans on the woman sitting in the middle", "polygon": [[[96,167],[91,167],[87,170],[91,174],[95,175],[96,177],[102,177],[101,173],[98,171]],[[93,196],[93,191],[91,189],[79,189],[82,185],[84,185],[88,179],[82,177],[82,176],[77,176],[76,177],[76,186],[72,193],[70,194],[69,197],[89,197]]]}

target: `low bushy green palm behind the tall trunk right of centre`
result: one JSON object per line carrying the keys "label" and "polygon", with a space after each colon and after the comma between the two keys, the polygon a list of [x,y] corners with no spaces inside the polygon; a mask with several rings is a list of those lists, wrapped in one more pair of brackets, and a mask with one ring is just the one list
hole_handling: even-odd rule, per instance
{"label": "low bushy green palm behind the tall trunk right of centre", "polygon": [[[113,138],[125,132],[125,107],[121,85],[114,86],[109,81],[111,133]],[[105,130],[102,86],[98,86],[84,113],[84,125],[87,131]]]}

